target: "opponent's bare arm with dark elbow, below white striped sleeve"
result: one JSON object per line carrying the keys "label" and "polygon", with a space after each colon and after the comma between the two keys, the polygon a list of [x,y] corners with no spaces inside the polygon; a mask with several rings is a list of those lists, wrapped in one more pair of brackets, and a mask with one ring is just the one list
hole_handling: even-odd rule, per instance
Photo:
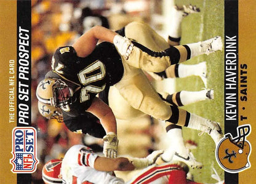
{"label": "opponent's bare arm with dark elbow, below white striped sleeve", "polygon": [[135,167],[127,158],[120,157],[113,159],[98,156],[94,162],[94,169],[110,172],[114,170],[134,170]]}

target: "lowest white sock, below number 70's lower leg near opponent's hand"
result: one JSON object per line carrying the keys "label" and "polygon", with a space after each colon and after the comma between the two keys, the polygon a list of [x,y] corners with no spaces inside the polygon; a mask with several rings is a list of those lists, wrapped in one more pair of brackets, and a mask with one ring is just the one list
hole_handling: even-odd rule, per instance
{"label": "lowest white sock, below number 70's lower leg near opponent's hand", "polygon": [[[182,129],[170,129],[167,132],[167,136],[170,139],[170,146],[161,155],[164,161],[170,161],[177,152],[181,156],[186,157],[188,155],[188,150],[185,147],[184,140],[182,137]],[[178,145],[178,146],[177,146]]]}

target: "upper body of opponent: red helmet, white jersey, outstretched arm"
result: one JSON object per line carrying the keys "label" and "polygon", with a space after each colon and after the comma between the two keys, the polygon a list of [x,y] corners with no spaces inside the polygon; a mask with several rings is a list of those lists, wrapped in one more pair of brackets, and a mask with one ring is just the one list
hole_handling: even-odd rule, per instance
{"label": "upper body of opponent: red helmet, white jersey, outstretched arm", "polygon": [[[112,159],[98,156],[87,146],[74,145],[66,152],[62,161],[54,159],[46,163],[42,169],[42,178],[47,183],[57,182],[56,180],[63,183],[124,183],[121,178],[114,177],[114,170],[126,171],[150,166],[161,153],[161,150],[154,151],[146,158]],[[55,175],[53,172],[58,173]],[[55,177],[50,178],[50,175]]]}

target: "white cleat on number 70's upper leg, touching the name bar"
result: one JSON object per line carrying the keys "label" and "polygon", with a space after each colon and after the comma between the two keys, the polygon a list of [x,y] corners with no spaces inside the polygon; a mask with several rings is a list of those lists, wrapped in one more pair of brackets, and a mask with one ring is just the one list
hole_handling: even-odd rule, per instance
{"label": "white cleat on number 70's upper leg, touching the name bar", "polygon": [[222,50],[222,47],[222,38],[220,36],[215,36],[214,38],[207,39],[206,41],[201,41],[199,51],[209,55],[217,50]]}

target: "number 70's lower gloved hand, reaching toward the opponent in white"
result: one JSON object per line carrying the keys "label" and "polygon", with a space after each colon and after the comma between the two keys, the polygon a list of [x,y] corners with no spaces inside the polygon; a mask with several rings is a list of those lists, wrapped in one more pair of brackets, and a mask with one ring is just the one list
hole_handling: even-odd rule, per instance
{"label": "number 70's lower gloved hand, reaching toward the opponent in white", "polygon": [[114,132],[108,132],[103,137],[103,154],[107,158],[116,158],[118,154],[118,137]]}

